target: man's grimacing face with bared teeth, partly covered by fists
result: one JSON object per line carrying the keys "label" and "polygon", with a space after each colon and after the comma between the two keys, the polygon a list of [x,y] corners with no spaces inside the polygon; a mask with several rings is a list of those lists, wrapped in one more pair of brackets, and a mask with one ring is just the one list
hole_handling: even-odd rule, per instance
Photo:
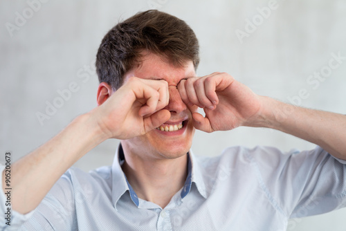
{"label": "man's grimacing face with bared teeth, partly covered by fists", "polygon": [[132,76],[167,81],[170,102],[165,109],[170,111],[171,117],[160,127],[143,136],[122,140],[122,146],[139,158],[169,159],[185,155],[192,145],[192,112],[197,111],[197,107],[188,108],[184,104],[176,85],[183,79],[196,76],[193,63],[186,62],[184,67],[176,68],[158,55],[149,53],[143,57],[140,66],[125,74],[124,81]]}

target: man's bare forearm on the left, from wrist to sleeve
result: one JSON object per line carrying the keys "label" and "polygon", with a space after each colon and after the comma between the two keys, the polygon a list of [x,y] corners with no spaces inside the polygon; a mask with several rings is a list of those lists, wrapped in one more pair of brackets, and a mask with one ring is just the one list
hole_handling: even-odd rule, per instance
{"label": "man's bare forearm on the left, from wrist to sleeve", "polygon": [[[80,115],[66,129],[12,165],[12,209],[34,210],[55,182],[87,151],[105,140],[90,113]],[[2,177],[3,185],[4,176]]]}

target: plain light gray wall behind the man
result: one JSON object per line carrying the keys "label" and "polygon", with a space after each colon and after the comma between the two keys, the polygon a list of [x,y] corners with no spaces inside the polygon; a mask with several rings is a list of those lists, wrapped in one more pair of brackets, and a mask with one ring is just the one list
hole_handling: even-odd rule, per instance
{"label": "plain light gray wall behind the man", "polygon": [[[93,63],[102,37],[119,20],[149,8],[180,17],[197,33],[198,75],[225,71],[260,95],[285,102],[295,97],[293,103],[303,107],[346,113],[346,59],[337,68],[327,68],[331,53],[346,57],[346,1],[277,0],[275,9],[260,16],[258,8],[269,4],[267,0],[1,1],[1,155],[12,151],[12,161],[17,160],[93,109],[98,87]],[[247,20],[255,20],[257,26],[241,42],[236,31],[246,32]],[[309,75],[320,71],[325,71],[325,80],[309,84]],[[75,92],[59,102],[58,91],[71,83]],[[37,112],[46,113],[54,102],[60,108],[40,123]],[[111,165],[117,145],[118,140],[107,140],[75,166],[88,171]],[[212,134],[197,131],[192,149],[213,156],[230,145],[271,145],[283,151],[314,147],[279,131],[244,127]],[[295,219],[288,230],[346,230],[345,216],[343,209]]]}

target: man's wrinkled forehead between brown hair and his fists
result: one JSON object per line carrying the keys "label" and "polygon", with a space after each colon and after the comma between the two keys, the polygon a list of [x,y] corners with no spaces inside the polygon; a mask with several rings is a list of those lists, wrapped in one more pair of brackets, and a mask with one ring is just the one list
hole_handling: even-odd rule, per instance
{"label": "man's wrinkled forehead between brown hair and his fists", "polygon": [[125,82],[132,76],[143,79],[165,80],[168,85],[176,85],[182,79],[195,77],[196,73],[192,61],[186,62],[182,67],[176,67],[162,57],[149,53],[143,56],[139,66],[125,74]]}

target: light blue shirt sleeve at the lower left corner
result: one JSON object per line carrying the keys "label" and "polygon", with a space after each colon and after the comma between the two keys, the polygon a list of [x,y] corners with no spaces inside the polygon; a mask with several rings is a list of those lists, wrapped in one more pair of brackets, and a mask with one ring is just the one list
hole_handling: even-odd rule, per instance
{"label": "light blue shirt sleeve at the lower left corner", "polygon": [[[5,166],[0,165],[0,172]],[[1,175],[2,176],[2,175]],[[75,230],[75,201],[69,174],[64,174],[52,187],[42,202],[33,211],[20,214],[10,210],[10,225],[0,222],[0,230]],[[2,189],[2,181],[0,188]],[[0,194],[0,213],[6,214],[8,210],[6,194]],[[12,201],[10,201],[12,204]],[[2,219],[4,219],[3,217]]]}

